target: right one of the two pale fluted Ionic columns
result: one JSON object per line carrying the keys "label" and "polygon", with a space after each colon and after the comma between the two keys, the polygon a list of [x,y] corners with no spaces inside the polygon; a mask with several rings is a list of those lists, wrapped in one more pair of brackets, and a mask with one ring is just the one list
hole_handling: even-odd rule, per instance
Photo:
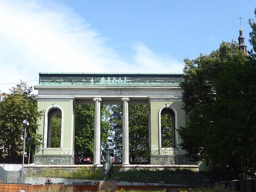
{"label": "right one of the two pale fluted Ionic columns", "polygon": [[128,101],[130,98],[122,98],[123,101],[123,158],[122,164],[129,164],[129,122]]}

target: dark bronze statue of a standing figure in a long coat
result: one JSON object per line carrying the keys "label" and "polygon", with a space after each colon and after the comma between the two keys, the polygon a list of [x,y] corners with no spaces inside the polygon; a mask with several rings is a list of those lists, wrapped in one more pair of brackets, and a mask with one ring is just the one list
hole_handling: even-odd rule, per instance
{"label": "dark bronze statue of a standing figure in a long coat", "polygon": [[103,160],[103,174],[104,180],[107,180],[107,175],[109,175],[109,180],[111,180],[111,174],[113,171],[112,157],[114,157],[113,149],[110,149],[110,143],[106,143],[106,148],[102,150],[101,159]]}

